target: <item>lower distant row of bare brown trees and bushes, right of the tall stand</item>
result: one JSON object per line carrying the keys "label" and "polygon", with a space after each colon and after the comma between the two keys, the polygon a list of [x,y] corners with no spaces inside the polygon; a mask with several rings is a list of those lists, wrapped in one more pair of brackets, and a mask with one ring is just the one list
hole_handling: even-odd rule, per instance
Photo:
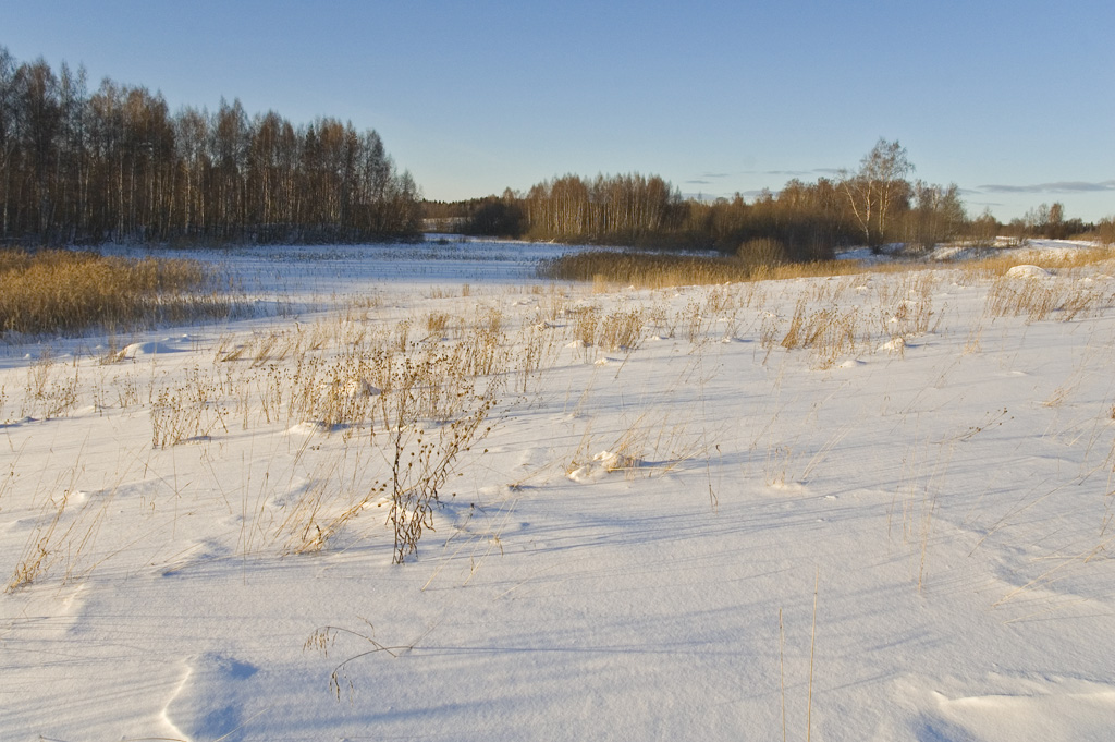
{"label": "lower distant row of bare brown trees and bushes, right of the tall stand", "polygon": [[856,170],[813,183],[795,179],[749,202],[738,193],[685,199],[659,176],[632,173],[564,175],[525,193],[508,189],[501,196],[426,205],[429,215],[443,223],[455,218],[453,227],[472,234],[726,253],[754,249],[775,261],[824,260],[844,245],[928,249],[958,239],[990,245],[1002,234],[1064,238],[1093,229],[1065,219],[1061,204],[1031,210],[1009,225],[990,212],[971,219],[954,183],[914,180],[913,170],[899,142],[880,138]]}

